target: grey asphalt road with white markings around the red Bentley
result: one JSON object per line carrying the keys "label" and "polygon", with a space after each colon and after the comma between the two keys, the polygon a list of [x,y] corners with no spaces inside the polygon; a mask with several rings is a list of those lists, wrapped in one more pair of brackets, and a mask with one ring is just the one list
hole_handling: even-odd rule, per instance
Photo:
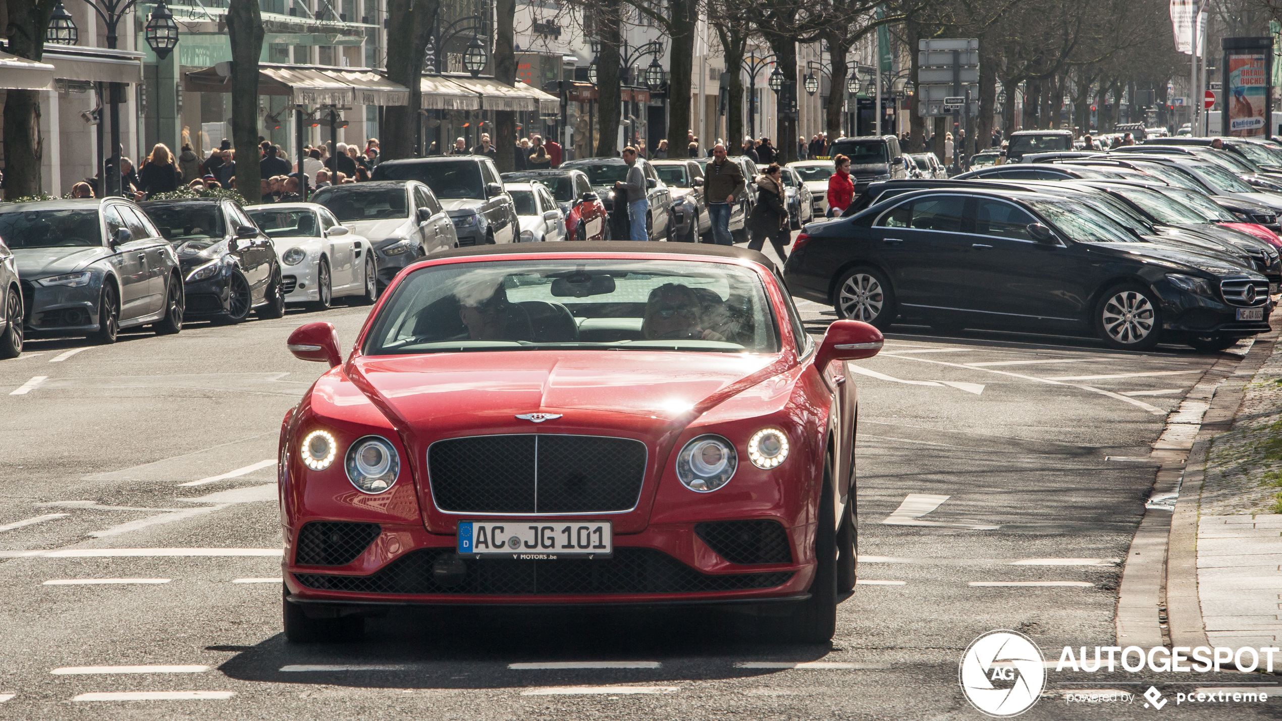
{"label": "grey asphalt road with white markings around the red Bentley", "polygon": [[[799,307],[815,334],[833,318]],[[860,585],[831,647],[764,643],[753,617],[706,610],[400,612],[363,643],[291,645],[273,462],[282,415],[322,366],[285,338],[323,319],[346,344],[365,314],[291,310],[110,347],[36,341],[0,362],[0,717],[981,718],[958,686],[977,635],[1019,630],[1053,661],[1063,645],[1114,643],[1117,563],[1154,466],[1108,457],[1146,456],[1219,357],[895,328],[850,369]],[[132,583],[58,583],[85,580]],[[1009,583],[1040,585],[986,585]],[[606,661],[635,667],[509,666]],[[760,667],[808,662],[823,663]],[[1051,670],[1024,717],[1158,713],[1138,697],[1065,703],[1069,690],[1273,683],[1197,676]],[[103,693],[159,698],[92,701]]]}

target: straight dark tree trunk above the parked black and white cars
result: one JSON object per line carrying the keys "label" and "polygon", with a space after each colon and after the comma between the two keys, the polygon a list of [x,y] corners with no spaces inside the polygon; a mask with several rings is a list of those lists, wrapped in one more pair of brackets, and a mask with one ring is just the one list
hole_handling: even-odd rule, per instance
{"label": "straight dark tree trunk above the parked black and white cars", "polygon": [[263,200],[258,166],[258,61],[263,56],[263,14],[258,0],[231,0],[227,38],[232,46],[232,143],[236,192],[250,205]]}

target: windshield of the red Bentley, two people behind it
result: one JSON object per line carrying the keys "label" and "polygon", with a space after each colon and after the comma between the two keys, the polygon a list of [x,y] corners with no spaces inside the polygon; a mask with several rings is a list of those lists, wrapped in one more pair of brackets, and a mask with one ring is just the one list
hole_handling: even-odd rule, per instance
{"label": "windshield of the red Bentley, two people behind it", "polygon": [[365,355],[467,351],[777,352],[760,277],[726,263],[522,260],[415,270]]}

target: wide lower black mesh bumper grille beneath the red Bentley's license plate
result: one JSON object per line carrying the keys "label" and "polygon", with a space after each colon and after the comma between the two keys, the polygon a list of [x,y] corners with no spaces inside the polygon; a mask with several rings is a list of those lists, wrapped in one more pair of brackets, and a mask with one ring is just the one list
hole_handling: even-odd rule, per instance
{"label": "wide lower black mesh bumper grille beneath the red Bentley's license plate", "polygon": [[436,583],[432,563],[455,557],[450,548],[424,548],[369,576],[295,574],[322,590],[404,594],[529,595],[604,593],[713,593],[782,585],[791,572],[709,575],[651,548],[615,548],[613,558],[517,561],[468,560],[462,583]]}

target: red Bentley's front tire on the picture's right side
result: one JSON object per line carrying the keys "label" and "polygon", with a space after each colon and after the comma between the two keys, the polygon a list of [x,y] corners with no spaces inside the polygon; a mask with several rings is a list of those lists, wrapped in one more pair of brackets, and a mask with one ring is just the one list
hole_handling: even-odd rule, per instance
{"label": "red Bentley's front tire on the picture's right side", "polygon": [[832,528],[832,457],[823,467],[818,524],[814,531],[814,581],[810,598],[792,607],[778,620],[778,635],[785,643],[828,643],[837,633],[837,534]]}

